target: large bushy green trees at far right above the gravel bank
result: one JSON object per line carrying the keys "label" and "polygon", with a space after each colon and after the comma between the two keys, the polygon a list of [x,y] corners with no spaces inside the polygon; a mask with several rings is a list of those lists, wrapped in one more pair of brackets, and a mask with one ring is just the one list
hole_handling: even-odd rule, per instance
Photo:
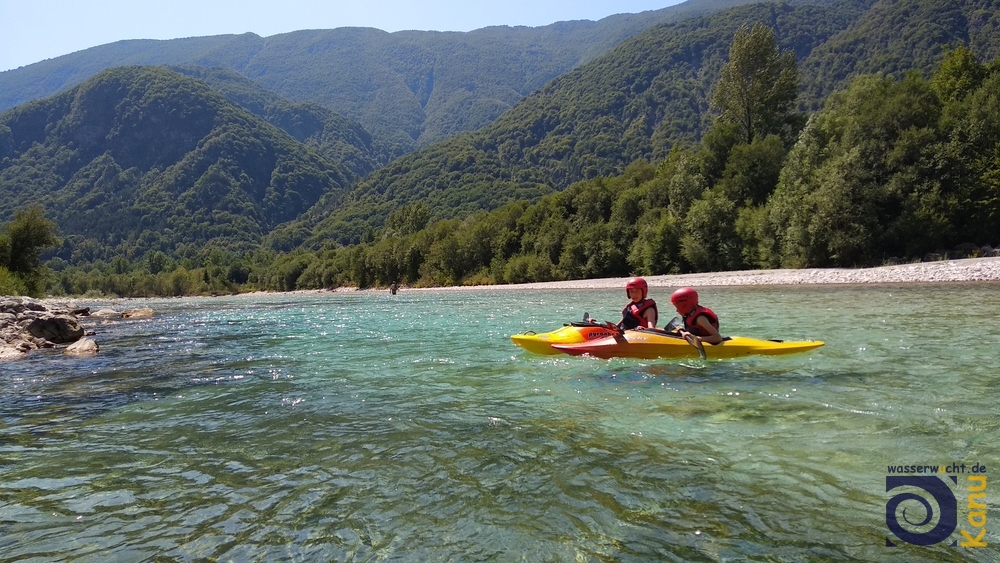
{"label": "large bushy green trees at far right above the gravel bank", "polygon": [[[976,73],[978,74],[978,72]],[[760,266],[852,266],[997,244],[996,73],[965,98],[927,80],[859,77],[788,156],[758,226]],[[935,85],[938,85],[935,87]]]}

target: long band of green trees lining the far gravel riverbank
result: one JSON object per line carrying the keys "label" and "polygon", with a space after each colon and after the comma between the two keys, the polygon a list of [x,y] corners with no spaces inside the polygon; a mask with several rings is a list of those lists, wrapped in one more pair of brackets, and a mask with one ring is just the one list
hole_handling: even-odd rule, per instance
{"label": "long band of green trees lining the far gravel riverbank", "polygon": [[[759,31],[741,33],[766,42]],[[770,58],[780,74],[776,45]],[[786,120],[760,120],[748,135],[719,108],[701,142],[533,204],[430,222],[431,210],[415,202],[393,212],[371,242],[215,251],[202,267],[162,258],[156,268],[149,261],[57,264],[50,290],[171,295],[520,283],[872,265],[956,247],[974,256],[1000,244],[997,92],[1000,62],[983,65],[959,47],[928,78],[857,77],[791,145],[783,139]]]}

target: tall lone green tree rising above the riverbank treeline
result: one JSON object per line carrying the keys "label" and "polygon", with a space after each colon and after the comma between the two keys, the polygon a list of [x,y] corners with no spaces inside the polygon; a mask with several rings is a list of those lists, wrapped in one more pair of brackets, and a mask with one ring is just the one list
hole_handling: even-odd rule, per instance
{"label": "tall lone green tree rising above the riverbank treeline", "polygon": [[795,54],[779,52],[774,30],[755,23],[740,27],[729,48],[712,98],[723,121],[739,126],[743,139],[780,133],[798,95]]}

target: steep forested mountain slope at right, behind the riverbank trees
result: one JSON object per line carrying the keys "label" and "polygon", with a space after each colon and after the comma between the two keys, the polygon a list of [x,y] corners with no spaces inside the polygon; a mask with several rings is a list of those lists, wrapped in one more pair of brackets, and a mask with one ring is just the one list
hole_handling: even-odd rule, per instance
{"label": "steep forested mountain slope at right, behind the riverbank trees", "polygon": [[1000,34],[983,30],[996,25],[1000,12],[988,4],[753,4],[657,26],[560,76],[489,127],[394,161],[367,178],[346,205],[321,202],[282,229],[280,242],[298,243],[311,231],[304,239],[311,246],[331,238],[353,243],[411,201],[424,202],[436,217],[460,216],[617,174],[638,159],[660,160],[710,125],[709,97],[742,24],[772,27],[780,48],[794,52],[804,68],[822,69],[802,75],[800,101],[811,106],[815,96],[844,87],[858,73],[861,57],[831,55],[844,50],[840,45],[892,62],[880,69],[864,59],[865,72],[929,72],[948,45],[970,44],[980,57],[995,57]]}

